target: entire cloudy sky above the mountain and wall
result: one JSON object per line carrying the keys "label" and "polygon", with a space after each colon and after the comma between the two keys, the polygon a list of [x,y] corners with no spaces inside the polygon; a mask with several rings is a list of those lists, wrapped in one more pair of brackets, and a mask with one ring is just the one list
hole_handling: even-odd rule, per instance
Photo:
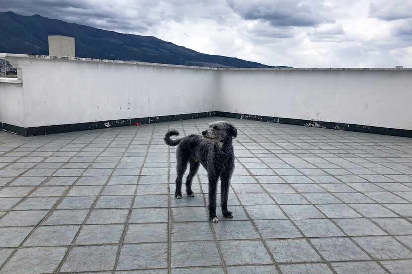
{"label": "entire cloudy sky above the mountain and wall", "polygon": [[412,0],[12,0],[0,11],[293,67],[412,67]]}

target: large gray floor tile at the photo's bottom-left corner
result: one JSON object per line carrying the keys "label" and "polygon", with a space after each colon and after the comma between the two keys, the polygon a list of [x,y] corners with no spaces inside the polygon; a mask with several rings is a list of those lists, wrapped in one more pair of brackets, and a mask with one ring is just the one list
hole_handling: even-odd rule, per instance
{"label": "large gray floor tile at the photo's bottom-left corner", "polygon": [[0,274],[51,273],[59,266],[66,251],[65,247],[19,249],[0,270]]}

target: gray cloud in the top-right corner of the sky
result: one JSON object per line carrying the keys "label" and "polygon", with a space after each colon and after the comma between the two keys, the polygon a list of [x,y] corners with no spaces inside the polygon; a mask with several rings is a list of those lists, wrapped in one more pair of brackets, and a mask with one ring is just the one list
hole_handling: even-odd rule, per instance
{"label": "gray cloud in the top-right corner of the sky", "polygon": [[369,5],[369,16],[385,21],[412,18],[412,2],[410,0],[375,0]]}

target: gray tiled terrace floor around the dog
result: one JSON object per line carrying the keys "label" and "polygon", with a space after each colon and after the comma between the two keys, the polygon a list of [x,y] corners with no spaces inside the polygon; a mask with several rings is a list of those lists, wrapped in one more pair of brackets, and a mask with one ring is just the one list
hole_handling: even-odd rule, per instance
{"label": "gray tiled terrace floor around the dog", "polygon": [[[219,120],[221,118],[213,118]],[[412,139],[231,120],[233,219],[175,200],[168,128],[0,132],[0,274],[410,274]]]}

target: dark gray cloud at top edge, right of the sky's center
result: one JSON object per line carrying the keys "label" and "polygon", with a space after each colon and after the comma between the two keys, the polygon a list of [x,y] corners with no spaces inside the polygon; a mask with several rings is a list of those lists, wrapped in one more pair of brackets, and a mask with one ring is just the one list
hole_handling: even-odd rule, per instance
{"label": "dark gray cloud at top edge, right of the sky's center", "polygon": [[273,26],[317,26],[333,23],[330,7],[323,1],[308,0],[227,0],[229,6],[246,20],[264,20]]}

